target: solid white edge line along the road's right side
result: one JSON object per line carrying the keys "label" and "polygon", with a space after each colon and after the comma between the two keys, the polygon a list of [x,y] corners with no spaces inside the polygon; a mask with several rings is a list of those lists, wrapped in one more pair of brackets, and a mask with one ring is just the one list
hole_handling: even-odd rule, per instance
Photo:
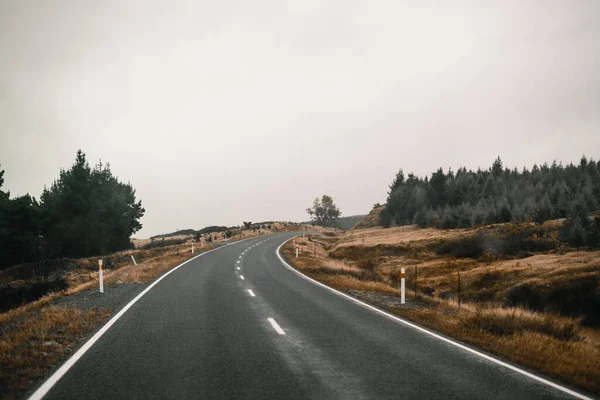
{"label": "solid white edge line along the road's right side", "polygon": [[[299,235],[298,235],[298,236],[299,236]],[[297,236],[294,236],[294,237],[297,237]],[[538,382],[540,382],[540,383],[543,383],[544,385],[547,385],[547,386],[550,386],[550,387],[552,387],[552,388],[554,388],[554,389],[560,390],[561,392],[564,392],[564,393],[570,394],[571,396],[573,396],[573,397],[576,397],[576,398],[578,398],[578,399],[582,399],[582,400],[593,400],[591,397],[587,397],[587,396],[585,396],[585,395],[583,395],[583,394],[581,394],[581,393],[575,392],[574,390],[571,390],[571,389],[569,389],[569,388],[566,388],[566,387],[564,387],[564,386],[561,386],[561,385],[559,385],[559,384],[557,384],[557,383],[551,382],[551,381],[549,381],[549,380],[547,380],[547,379],[544,379],[544,378],[542,378],[542,377],[540,377],[540,376],[537,376],[537,375],[535,375],[535,374],[532,374],[531,372],[527,372],[527,371],[525,371],[525,370],[523,370],[523,369],[521,369],[521,368],[515,367],[514,365],[510,365],[510,364],[508,364],[508,363],[506,363],[506,362],[504,362],[504,361],[500,361],[500,360],[498,360],[497,358],[494,358],[494,357],[491,357],[491,356],[489,356],[489,355],[487,355],[487,354],[481,353],[481,352],[479,352],[479,351],[477,351],[477,350],[474,350],[474,349],[472,349],[472,348],[470,348],[470,347],[467,347],[467,346],[465,346],[465,345],[463,345],[463,344],[461,344],[461,343],[459,343],[459,342],[455,342],[454,340],[450,340],[450,339],[448,339],[448,338],[445,338],[445,337],[443,337],[443,336],[440,336],[440,335],[438,335],[438,334],[436,334],[436,333],[434,333],[434,332],[432,332],[432,331],[429,331],[429,330],[427,330],[427,329],[425,329],[425,328],[422,328],[422,327],[420,327],[420,326],[418,326],[418,325],[415,325],[415,324],[413,324],[413,323],[411,323],[411,322],[409,322],[409,321],[407,321],[407,320],[405,320],[405,319],[403,319],[403,318],[400,318],[400,317],[397,317],[397,316],[395,316],[395,315],[392,315],[392,314],[390,314],[390,313],[388,313],[388,312],[386,312],[386,311],[380,310],[380,309],[379,309],[379,308],[377,308],[377,307],[374,307],[374,306],[372,306],[372,305],[370,305],[370,304],[364,303],[364,302],[362,302],[362,301],[360,301],[360,300],[358,300],[358,299],[356,299],[356,298],[354,298],[354,297],[352,297],[352,296],[350,296],[350,295],[348,295],[348,294],[346,294],[346,293],[340,292],[339,290],[336,290],[336,289],[334,289],[334,288],[331,288],[331,287],[329,287],[329,286],[327,286],[327,285],[325,285],[325,284],[323,284],[323,283],[321,283],[321,282],[319,282],[319,281],[316,281],[316,280],[314,280],[314,279],[313,279],[313,278],[311,278],[311,277],[308,277],[308,276],[304,275],[302,272],[300,272],[300,271],[296,270],[294,267],[292,267],[291,265],[289,265],[289,264],[288,264],[288,263],[287,263],[287,262],[286,262],[286,261],[283,259],[283,257],[282,257],[282,256],[281,256],[281,254],[280,254],[280,250],[281,250],[281,248],[283,247],[283,245],[284,245],[284,244],[286,244],[287,242],[289,242],[290,240],[292,240],[294,237],[291,237],[291,238],[289,238],[288,240],[286,240],[285,242],[283,242],[283,243],[282,243],[282,244],[281,244],[281,245],[280,245],[280,246],[277,248],[277,250],[275,251],[275,253],[277,254],[277,257],[279,257],[279,260],[280,260],[280,261],[283,263],[283,265],[285,265],[285,266],[286,266],[288,269],[290,269],[290,270],[292,270],[293,272],[295,272],[296,274],[298,274],[300,277],[302,277],[302,278],[304,278],[304,279],[306,279],[306,280],[308,280],[308,281],[310,281],[310,282],[312,282],[312,283],[314,283],[314,284],[316,284],[316,285],[319,285],[319,286],[321,286],[321,287],[323,287],[323,288],[325,288],[325,289],[327,289],[327,290],[329,290],[329,291],[331,291],[331,292],[333,292],[333,293],[335,293],[335,294],[337,294],[337,295],[339,295],[339,296],[342,296],[342,297],[344,297],[344,298],[346,298],[346,299],[348,299],[348,300],[350,300],[350,301],[353,301],[353,302],[355,302],[355,303],[357,303],[357,304],[359,304],[359,305],[361,305],[361,306],[363,306],[363,307],[365,307],[365,308],[368,308],[368,309],[369,309],[369,310],[371,310],[371,311],[375,311],[376,313],[378,313],[378,314],[381,314],[381,315],[383,315],[383,316],[385,316],[385,317],[387,317],[387,318],[390,318],[390,319],[392,319],[392,320],[394,320],[394,321],[396,321],[396,322],[400,322],[400,323],[402,323],[402,324],[404,324],[404,325],[407,325],[407,326],[409,326],[409,327],[411,327],[411,328],[414,328],[414,329],[416,329],[416,330],[418,330],[418,331],[420,331],[420,332],[422,332],[422,333],[425,333],[426,335],[433,336],[433,337],[434,337],[434,338],[436,338],[436,339],[439,339],[439,340],[441,340],[441,341],[443,341],[443,342],[446,342],[446,343],[448,343],[448,344],[451,344],[452,346],[458,347],[458,348],[460,348],[460,349],[462,349],[462,350],[468,351],[468,352],[469,352],[469,353],[471,353],[471,354],[475,354],[476,356],[479,356],[479,357],[481,357],[481,358],[484,358],[484,359],[486,359],[486,360],[488,360],[488,361],[491,361],[491,362],[492,362],[492,363],[494,363],[494,364],[498,364],[498,365],[500,365],[500,366],[502,366],[502,367],[508,368],[508,369],[510,369],[510,370],[512,370],[512,371],[514,371],[514,372],[517,372],[517,373],[519,373],[519,374],[521,374],[521,375],[524,375],[524,376],[526,376],[526,377],[528,377],[528,378],[531,378],[531,379],[533,379],[533,380],[535,380],[535,381],[538,381]],[[273,322],[274,322],[274,321],[273,321]],[[271,324],[272,324],[272,323],[271,323]]]}

